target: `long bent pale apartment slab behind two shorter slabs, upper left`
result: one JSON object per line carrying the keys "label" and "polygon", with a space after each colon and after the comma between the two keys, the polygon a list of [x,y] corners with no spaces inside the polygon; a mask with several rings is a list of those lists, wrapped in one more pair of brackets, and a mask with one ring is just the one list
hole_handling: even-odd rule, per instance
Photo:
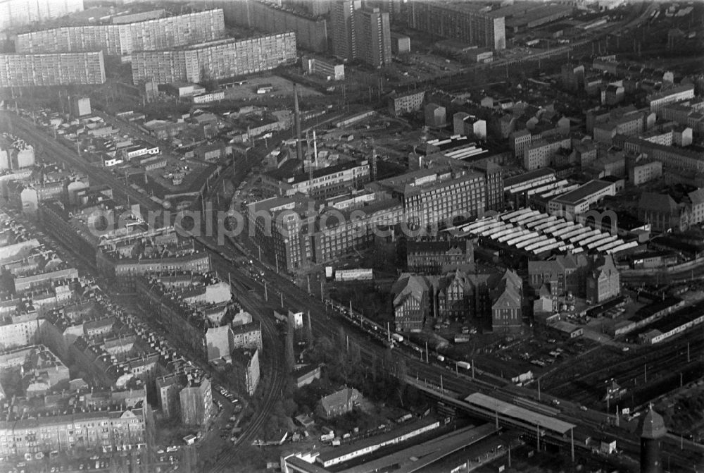
{"label": "long bent pale apartment slab behind two shorter slabs, upper left", "polygon": [[15,51],[38,54],[101,50],[108,56],[129,56],[134,51],[169,49],[224,36],[225,19],[222,10],[217,9],[134,23],[24,33],[15,39]]}

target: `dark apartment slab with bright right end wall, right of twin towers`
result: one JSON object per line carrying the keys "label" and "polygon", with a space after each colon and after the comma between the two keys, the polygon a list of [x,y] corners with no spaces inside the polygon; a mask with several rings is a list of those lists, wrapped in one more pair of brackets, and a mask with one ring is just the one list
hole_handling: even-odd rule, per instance
{"label": "dark apartment slab with bright right end wall, right of twin towers", "polygon": [[504,17],[483,11],[482,4],[419,0],[408,5],[408,23],[416,30],[459,39],[472,46],[506,48]]}

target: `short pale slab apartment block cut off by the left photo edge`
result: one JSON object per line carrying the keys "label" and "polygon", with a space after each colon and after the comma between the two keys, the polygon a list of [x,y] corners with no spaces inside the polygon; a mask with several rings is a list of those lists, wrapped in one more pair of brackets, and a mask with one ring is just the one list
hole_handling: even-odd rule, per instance
{"label": "short pale slab apartment block cut off by the left photo edge", "polygon": [[91,85],[104,82],[102,51],[0,54],[0,87]]}

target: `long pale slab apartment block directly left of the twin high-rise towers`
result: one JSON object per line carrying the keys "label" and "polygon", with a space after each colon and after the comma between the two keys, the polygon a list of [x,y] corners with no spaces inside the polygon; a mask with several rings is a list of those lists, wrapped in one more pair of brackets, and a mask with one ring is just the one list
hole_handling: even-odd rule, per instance
{"label": "long pale slab apartment block directly left of the twin high-rise towers", "polygon": [[293,32],[249,39],[220,39],[163,51],[132,53],[135,85],[154,81],[203,82],[271,70],[296,60]]}

